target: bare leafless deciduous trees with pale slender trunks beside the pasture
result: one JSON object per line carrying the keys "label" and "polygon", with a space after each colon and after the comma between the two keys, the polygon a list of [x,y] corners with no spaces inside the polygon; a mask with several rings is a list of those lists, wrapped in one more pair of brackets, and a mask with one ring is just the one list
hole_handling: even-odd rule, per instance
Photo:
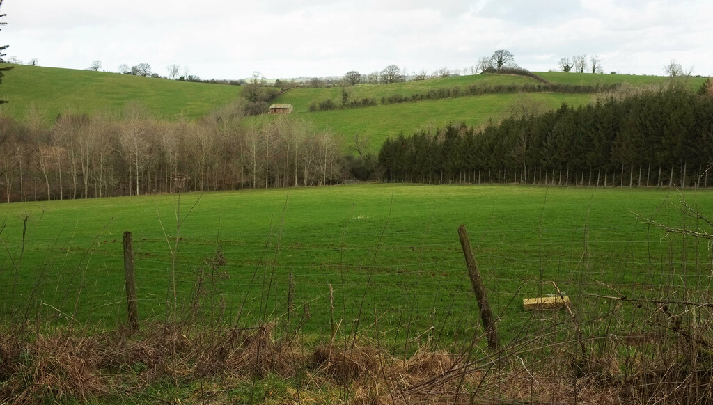
{"label": "bare leafless deciduous trees with pale slender trunks beside the pasture", "polygon": [[[33,116],[34,115],[34,116]],[[327,185],[343,177],[329,132],[284,116],[241,123],[239,103],[198,122],[158,121],[132,104],[120,118],[39,113],[0,118],[0,198],[62,200],[180,190]]]}

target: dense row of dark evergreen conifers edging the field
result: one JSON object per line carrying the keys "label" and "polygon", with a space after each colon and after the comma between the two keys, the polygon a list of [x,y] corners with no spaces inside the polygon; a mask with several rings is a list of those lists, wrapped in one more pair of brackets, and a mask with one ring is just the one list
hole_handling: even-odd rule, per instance
{"label": "dense row of dark evergreen conifers edging the field", "polygon": [[713,98],[677,86],[399,135],[379,153],[383,180],[424,183],[707,187],[712,162]]}

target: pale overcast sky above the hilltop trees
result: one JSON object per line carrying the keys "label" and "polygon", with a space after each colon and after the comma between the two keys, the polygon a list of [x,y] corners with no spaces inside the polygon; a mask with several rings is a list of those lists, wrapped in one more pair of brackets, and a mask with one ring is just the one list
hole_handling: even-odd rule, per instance
{"label": "pale overcast sky above the hilltop trees", "polygon": [[4,0],[7,56],[106,71],[148,63],[200,78],[342,76],[396,64],[461,69],[507,49],[530,71],[598,55],[605,72],[655,74],[675,59],[713,74],[713,1]]}

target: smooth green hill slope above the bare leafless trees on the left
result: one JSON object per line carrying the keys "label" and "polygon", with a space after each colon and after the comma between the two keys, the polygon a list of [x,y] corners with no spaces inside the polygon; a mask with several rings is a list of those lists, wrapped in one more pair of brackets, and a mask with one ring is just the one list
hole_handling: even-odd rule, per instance
{"label": "smooth green hill slope above the bare leafless trees on the left", "polygon": [[51,123],[65,111],[115,114],[127,103],[138,102],[158,118],[198,118],[234,101],[241,90],[240,86],[15,65],[0,85],[0,98],[9,101],[0,111],[23,119],[26,111],[36,108]]}

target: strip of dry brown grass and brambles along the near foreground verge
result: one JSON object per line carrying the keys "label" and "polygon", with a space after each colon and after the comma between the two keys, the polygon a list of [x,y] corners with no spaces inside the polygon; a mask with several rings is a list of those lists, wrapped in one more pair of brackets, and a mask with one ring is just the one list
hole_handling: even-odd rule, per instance
{"label": "strip of dry brown grass and brambles along the near foreground verge", "polygon": [[[709,308],[697,308],[688,322],[682,321],[688,306],[652,311],[640,328],[588,340],[584,354],[577,328],[564,325],[557,339],[515,342],[496,354],[423,346],[407,359],[359,339],[306,347],[277,333],[275,323],[252,329],[143,324],[150,332],[133,336],[125,329],[38,334],[26,327],[1,335],[0,403],[123,398],[160,381],[200,381],[193,399],[222,404],[231,402],[225,393],[237,384],[265,378],[281,379],[286,388],[256,402],[319,403],[339,392],[336,403],[364,405],[711,403]],[[295,389],[297,376],[304,382]]]}

